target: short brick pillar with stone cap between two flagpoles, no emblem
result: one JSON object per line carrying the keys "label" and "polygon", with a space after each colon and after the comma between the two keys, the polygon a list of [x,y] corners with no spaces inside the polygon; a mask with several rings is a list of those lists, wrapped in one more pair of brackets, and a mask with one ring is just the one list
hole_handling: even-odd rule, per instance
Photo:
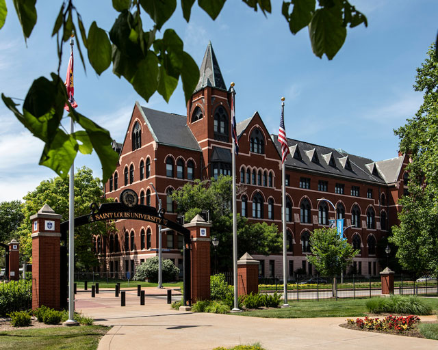
{"label": "short brick pillar with stone cap between two flagpoles, no emblem", "polygon": [[259,291],[259,260],[245,253],[237,261],[237,291],[239,295],[257,293]]}

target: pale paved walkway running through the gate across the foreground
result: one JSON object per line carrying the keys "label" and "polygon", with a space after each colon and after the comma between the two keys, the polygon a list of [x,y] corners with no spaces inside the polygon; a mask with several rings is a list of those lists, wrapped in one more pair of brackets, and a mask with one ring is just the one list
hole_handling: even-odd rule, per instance
{"label": "pale paved walkway running through the gate across the foreground", "polygon": [[[97,324],[114,326],[99,343],[106,349],[210,350],[260,342],[268,350],[282,349],[438,349],[437,340],[360,332],[339,327],[345,318],[261,319],[233,314],[179,312],[166,304],[166,291],[146,289],[140,306],[136,291],[127,295],[127,306],[107,293],[90,300],[78,293],[77,309]],[[175,299],[180,299],[176,296]],[[98,304],[98,305],[96,305]],[[422,317],[424,321],[436,316]]]}

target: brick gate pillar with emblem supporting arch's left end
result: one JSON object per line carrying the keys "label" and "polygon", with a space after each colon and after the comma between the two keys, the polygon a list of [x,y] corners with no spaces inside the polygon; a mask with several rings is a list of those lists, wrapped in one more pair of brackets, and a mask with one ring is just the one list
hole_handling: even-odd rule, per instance
{"label": "brick gate pillar with emblem supporting arch's left end", "polygon": [[47,204],[30,217],[34,310],[42,305],[60,310],[61,218]]}

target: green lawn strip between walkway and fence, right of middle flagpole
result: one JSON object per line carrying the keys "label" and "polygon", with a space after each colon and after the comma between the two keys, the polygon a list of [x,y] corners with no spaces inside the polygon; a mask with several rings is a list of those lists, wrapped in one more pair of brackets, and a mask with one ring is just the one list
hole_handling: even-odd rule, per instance
{"label": "green lawn strip between walkway and fence, right of middle flagpole", "polygon": [[[268,310],[254,310],[236,313],[250,317],[273,317],[277,319],[298,319],[309,317],[363,317],[366,316],[366,302],[364,299],[338,299],[337,301],[292,301],[290,308],[278,308]],[[422,298],[433,312],[438,311],[437,298]]]}

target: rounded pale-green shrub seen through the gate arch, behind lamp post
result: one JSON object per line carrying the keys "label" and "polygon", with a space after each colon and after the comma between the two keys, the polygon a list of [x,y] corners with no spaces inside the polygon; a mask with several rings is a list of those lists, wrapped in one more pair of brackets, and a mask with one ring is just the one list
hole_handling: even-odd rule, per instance
{"label": "rounded pale-green shrub seen through the gate arch, behind lamp post", "polygon": [[[177,280],[179,269],[171,260],[165,259],[162,260],[162,273],[163,282],[172,282]],[[154,256],[142,262],[142,264],[137,267],[133,280],[158,282],[158,256]]]}

